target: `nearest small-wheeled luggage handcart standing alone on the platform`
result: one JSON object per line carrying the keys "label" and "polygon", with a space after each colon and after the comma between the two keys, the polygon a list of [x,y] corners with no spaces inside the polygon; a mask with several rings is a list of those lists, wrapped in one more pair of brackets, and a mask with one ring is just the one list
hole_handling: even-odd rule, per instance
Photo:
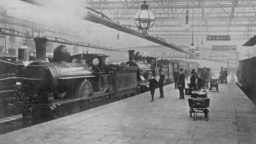
{"label": "nearest small-wheeled luggage handcart standing alone on the platform", "polygon": [[190,117],[194,114],[194,121],[196,121],[198,113],[204,113],[205,121],[209,121],[210,98],[188,98],[188,104]]}

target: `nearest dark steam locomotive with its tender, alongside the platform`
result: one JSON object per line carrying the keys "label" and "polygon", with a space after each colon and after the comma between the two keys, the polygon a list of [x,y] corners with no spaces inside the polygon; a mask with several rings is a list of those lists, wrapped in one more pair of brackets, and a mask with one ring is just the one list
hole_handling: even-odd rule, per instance
{"label": "nearest dark steam locomotive with its tender, alongside the platform", "polygon": [[[46,60],[46,38],[36,38],[37,62],[23,71],[17,103],[23,106],[24,125],[41,123],[90,108],[91,103],[137,92],[137,67],[106,65],[108,55],[70,55],[66,47],[54,49]],[[70,62],[72,61],[72,62]]]}

